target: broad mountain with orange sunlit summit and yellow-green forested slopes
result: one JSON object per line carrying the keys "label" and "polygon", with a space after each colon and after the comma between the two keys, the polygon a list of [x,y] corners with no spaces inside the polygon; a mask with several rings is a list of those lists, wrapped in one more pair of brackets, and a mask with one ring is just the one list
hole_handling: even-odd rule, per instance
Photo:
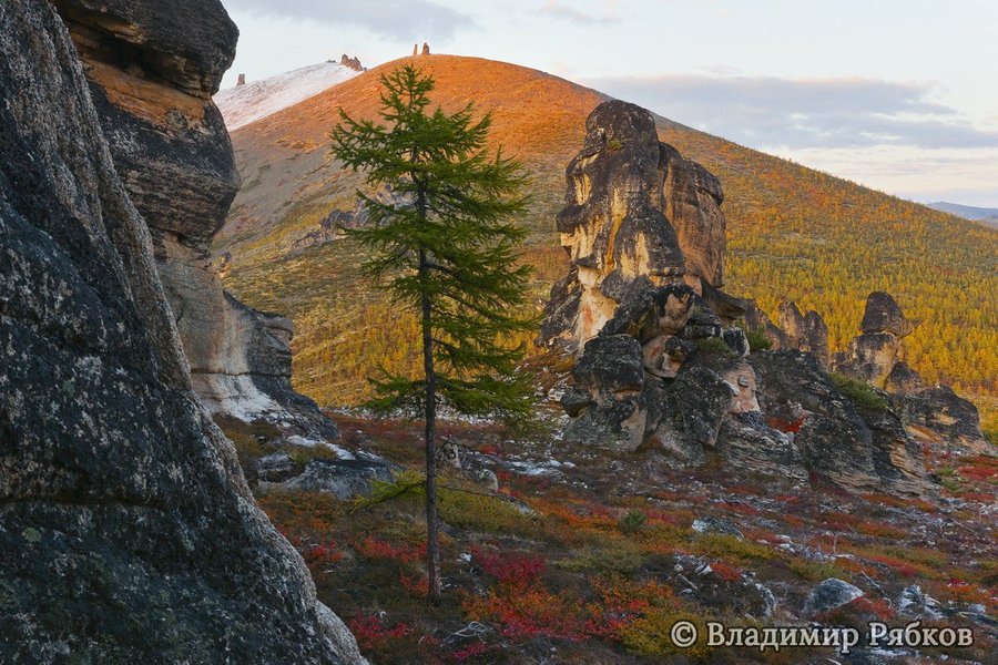
{"label": "broad mountain with orange sunlit summit and yellow-green forested slopes", "polygon": [[[431,55],[381,65],[233,132],[243,188],[214,250],[226,287],[296,324],[296,387],[322,405],[356,403],[379,365],[411,367],[415,321],[357,274],[356,247],[334,219],[357,211],[361,178],[339,168],[329,131],[343,108],[375,117],[379,75],[415,62],[446,110],[492,112],[491,140],[523,162],[533,203],[527,259],[538,303],[566,269],[553,218],[564,167],[588,114],[607,95],[558,76],[478,58]],[[998,233],[655,116],[660,139],[713,172],[725,192],[727,293],[775,313],[782,297],[819,311],[831,350],[855,335],[866,296],[894,294],[921,325],[906,339],[927,381],[987,397],[998,376]],[[390,321],[390,324],[389,324]]]}

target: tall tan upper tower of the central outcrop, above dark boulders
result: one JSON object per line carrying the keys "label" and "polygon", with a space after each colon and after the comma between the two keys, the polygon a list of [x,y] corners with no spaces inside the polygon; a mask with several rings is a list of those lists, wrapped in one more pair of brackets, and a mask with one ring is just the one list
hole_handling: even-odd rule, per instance
{"label": "tall tan upper tower of the central outcrop, above dark boulders", "polygon": [[541,340],[581,349],[639,278],[653,286],[720,286],[725,245],[721,185],[659,142],[651,114],[620,101],[585,121],[567,171],[557,227],[572,272],[551,293]]}

